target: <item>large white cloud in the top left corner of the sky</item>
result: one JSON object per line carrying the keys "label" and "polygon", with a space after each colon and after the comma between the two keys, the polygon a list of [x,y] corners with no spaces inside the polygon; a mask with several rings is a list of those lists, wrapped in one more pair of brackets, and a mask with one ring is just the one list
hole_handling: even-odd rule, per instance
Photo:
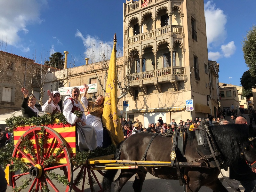
{"label": "large white cloud in the top left corner of the sky", "polygon": [[0,1],[0,36],[7,44],[29,51],[29,47],[20,45],[19,33],[28,34],[27,25],[41,23],[39,11],[44,1],[34,0],[8,0]]}

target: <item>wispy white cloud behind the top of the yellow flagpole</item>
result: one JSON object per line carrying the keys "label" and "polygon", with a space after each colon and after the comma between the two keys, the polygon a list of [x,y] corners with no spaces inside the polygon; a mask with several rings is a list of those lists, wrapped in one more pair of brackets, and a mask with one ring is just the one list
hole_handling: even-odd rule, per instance
{"label": "wispy white cloud behind the top of the yellow flagpole", "polygon": [[105,59],[110,59],[111,51],[113,48],[113,42],[104,42],[97,36],[83,36],[83,34],[77,29],[76,37],[82,39],[86,51],[84,52],[85,57],[88,57],[89,62],[99,62],[102,61],[103,57]]}

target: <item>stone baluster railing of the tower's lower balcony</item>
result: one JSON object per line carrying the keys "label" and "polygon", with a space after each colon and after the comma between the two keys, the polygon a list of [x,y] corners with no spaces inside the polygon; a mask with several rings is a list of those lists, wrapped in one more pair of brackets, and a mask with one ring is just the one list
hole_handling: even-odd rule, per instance
{"label": "stone baluster railing of the tower's lower balcony", "polygon": [[[161,69],[156,70],[156,76],[168,76],[174,74],[175,76],[184,76],[184,67],[165,67]],[[135,80],[140,80],[142,77],[143,80],[150,79],[155,77],[155,70],[152,71],[146,71],[142,72],[141,76],[140,73],[132,73],[129,75],[129,81],[135,81]]]}

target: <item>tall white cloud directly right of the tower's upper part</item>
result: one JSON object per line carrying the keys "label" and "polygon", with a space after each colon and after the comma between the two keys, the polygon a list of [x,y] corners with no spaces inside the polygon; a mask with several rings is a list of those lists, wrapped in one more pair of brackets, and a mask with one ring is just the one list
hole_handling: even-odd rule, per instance
{"label": "tall white cloud directly right of the tower's upper part", "polygon": [[204,16],[208,48],[223,44],[227,36],[227,16],[220,8],[216,8],[212,1],[204,4]]}

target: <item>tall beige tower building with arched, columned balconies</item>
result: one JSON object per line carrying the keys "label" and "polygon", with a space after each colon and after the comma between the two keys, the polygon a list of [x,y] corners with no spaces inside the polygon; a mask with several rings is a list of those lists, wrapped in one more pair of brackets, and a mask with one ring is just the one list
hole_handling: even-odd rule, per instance
{"label": "tall beige tower building with arched, columned balconies", "polygon": [[[127,1],[124,4],[125,73],[130,92],[124,116],[144,126],[161,116],[195,119],[218,113],[219,65],[208,61],[204,3],[187,0]],[[194,110],[186,111],[193,99]]]}

